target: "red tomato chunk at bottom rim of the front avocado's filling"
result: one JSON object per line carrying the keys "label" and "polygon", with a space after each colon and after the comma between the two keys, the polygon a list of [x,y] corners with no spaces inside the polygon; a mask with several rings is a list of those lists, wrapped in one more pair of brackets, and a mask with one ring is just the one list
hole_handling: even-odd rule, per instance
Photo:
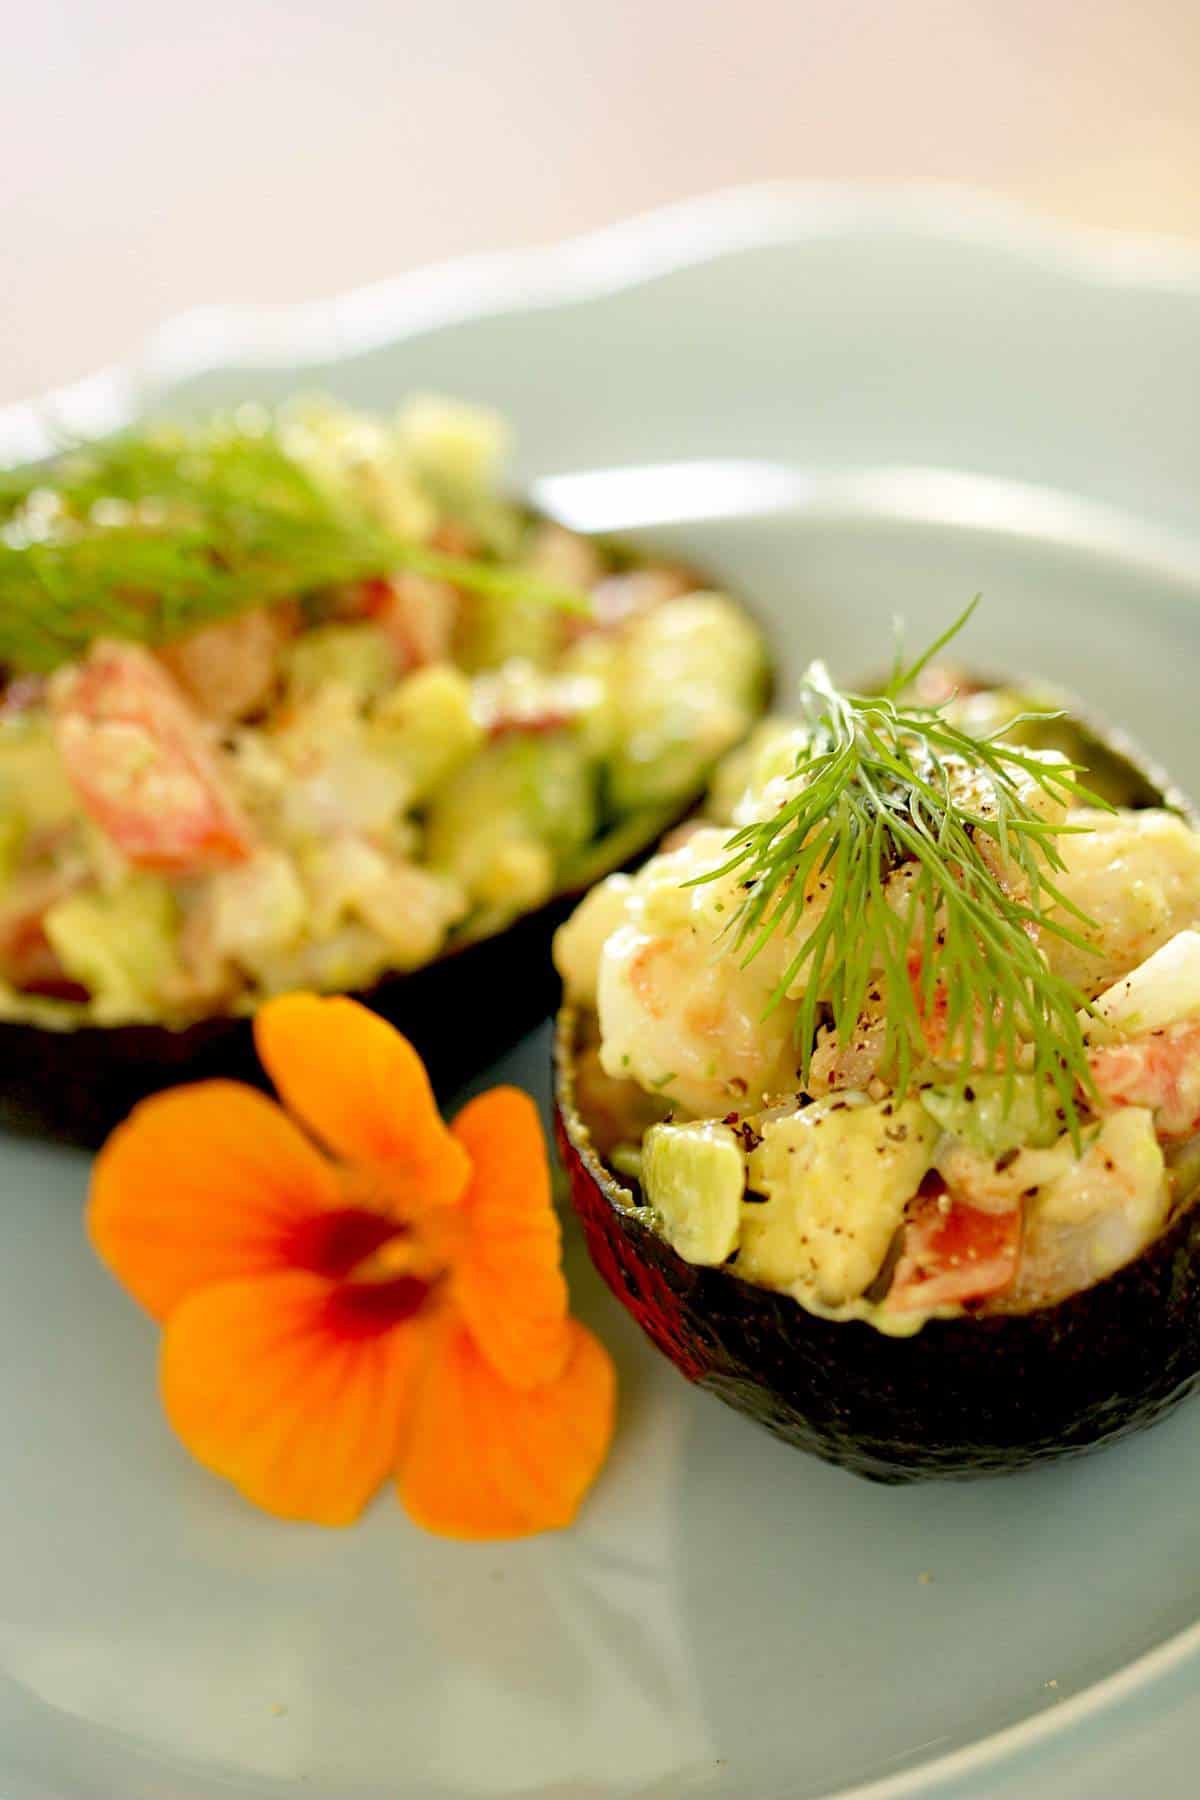
{"label": "red tomato chunk at bottom rim of the front avocado's filling", "polygon": [[999,1294],[1016,1274],[1020,1210],[984,1213],[946,1193],[918,1201],[887,1296],[892,1312],[964,1305]]}

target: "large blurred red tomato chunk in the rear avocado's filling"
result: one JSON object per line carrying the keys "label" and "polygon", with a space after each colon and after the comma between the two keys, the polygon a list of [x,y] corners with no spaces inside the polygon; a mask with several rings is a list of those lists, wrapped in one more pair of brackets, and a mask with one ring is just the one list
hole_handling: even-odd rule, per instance
{"label": "large blurred red tomato chunk in the rear avocado's filling", "polygon": [[58,747],[85,812],[142,869],[241,862],[252,835],[203,725],[137,644],[97,643],[50,686]]}

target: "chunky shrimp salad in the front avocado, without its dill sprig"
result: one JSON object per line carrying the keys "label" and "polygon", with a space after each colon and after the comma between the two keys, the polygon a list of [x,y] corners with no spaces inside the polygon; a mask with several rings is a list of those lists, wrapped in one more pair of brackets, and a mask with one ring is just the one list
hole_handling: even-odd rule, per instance
{"label": "chunky shrimp salad in the front avocado, without its dill sprig", "polygon": [[[844,916],[819,936],[844,839],[793,871],[786,914],[754,954],[730,938],[754,886],[730,830],[745,839],[790,815],[817,779],[802,769],[811,727],[759,725],[718,772],[707,819],[594,889],[556,940],[579,1015],[574,1102],[628,1204],[691,1264],[894,1336],[1092,1285],[1200,1181],[1200,833],[1162,796],[1148,803],[1133,763],[1051,718],[1045,697],[943,686],[939,716],[981,742],[1013,722],[1029,841],[1047,842],[1038,819],[1056,830],[1052,898],[1051,886],[1031,896],[1036,866],[986,830],[988,781],[970,758],[946,758],[946,790],[984,821],[997,893],[1047,983],[1078,997],[1069,1087],[1020,1035],[999,1042],[979,997],[973,1012],[948,1006],[936,968],[923,983],[946,907],[930,918],[912,905],[903,857],[880,864],[896,934],[880,938],[892,949],[873,958],[849,1030],[831,1004],[846,963],[819,950],[864,929],[842,895]],[[1063,749],[1092,769],[1087,803],[1042,785],[1040,765],[1065,767]],[[901,1012],[918,1021],[905,1057],[889,1031]]]}

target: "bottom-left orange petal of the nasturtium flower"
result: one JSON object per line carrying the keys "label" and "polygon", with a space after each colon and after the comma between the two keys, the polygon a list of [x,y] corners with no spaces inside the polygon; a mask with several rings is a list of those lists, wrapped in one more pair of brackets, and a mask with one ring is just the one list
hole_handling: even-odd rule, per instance
{"label": "bottom-left orange petal of the nasturtium flower", "polygon": [[187,1449],[284,1519],[349,1525],[390,1469],[428,1328],[342,1332],[338,1285],[291,1273],[187,1300],[162,1339],[162,1400]]}

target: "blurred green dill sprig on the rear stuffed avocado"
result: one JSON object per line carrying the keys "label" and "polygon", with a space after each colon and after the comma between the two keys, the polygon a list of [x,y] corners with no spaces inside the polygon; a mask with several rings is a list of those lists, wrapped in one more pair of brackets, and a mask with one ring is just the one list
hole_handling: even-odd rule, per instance
{"label": "blurred green dill sprig on the rear stuffed avocado", "polygon": [[583,610],[527,569],[448,556],[318,481],[270,425],[219,419],[0,472],[0,670],[47,671],[99,635],[167,643],[246,607],[396,571]]}

